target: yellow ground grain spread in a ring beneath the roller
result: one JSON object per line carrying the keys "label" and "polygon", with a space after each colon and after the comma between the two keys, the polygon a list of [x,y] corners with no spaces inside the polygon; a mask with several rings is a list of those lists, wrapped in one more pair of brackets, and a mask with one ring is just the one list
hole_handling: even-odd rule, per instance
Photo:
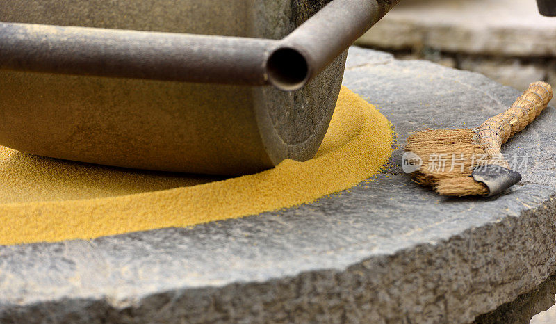
{"label": "yellow ground grain spread in a ring beneath the roller", "polygon": [[[59,161],[0,149],[0,245],[188,227],[312,202],[377,174],[389,121],[342,88],[317,156],[215,181]],[[218,180],[218,179],[216,179]]]}

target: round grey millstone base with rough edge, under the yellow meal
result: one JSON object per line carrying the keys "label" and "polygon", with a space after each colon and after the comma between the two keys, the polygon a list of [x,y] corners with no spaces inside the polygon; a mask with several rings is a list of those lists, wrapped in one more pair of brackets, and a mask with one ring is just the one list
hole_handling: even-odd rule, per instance
{"label": "round grey millstone base with rough edge, under the yellow meal", "polygon": [[[352,48],[344,83],[398,132],[480,124],[518,91]],[[470,323],[556,274],[554,108],[505,145],[501,197],[449,199],[391,168],[312,204],[188,229],[0,248],[0,321]]]}

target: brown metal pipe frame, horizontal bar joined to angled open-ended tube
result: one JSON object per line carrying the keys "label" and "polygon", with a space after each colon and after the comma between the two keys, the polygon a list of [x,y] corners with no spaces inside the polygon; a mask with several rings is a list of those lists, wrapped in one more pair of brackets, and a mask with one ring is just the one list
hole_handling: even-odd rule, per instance
{"label": "brown metal pipe frame, horizontal bar joined to angled open-ended tube", "polygon": [[399,0],[334,0],[283,40],[0,23],[0,69],[302,88]]}

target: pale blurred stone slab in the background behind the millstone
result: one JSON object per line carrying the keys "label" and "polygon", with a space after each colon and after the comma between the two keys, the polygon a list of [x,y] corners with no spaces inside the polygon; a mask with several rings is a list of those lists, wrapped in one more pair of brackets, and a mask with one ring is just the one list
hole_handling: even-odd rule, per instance
{"label": "pale blurred stone slab in the background behind the millstone", "polygon": [[556,18],[539,15],[532,0],[404,0],[359,44],[510,57],[555,56]]}

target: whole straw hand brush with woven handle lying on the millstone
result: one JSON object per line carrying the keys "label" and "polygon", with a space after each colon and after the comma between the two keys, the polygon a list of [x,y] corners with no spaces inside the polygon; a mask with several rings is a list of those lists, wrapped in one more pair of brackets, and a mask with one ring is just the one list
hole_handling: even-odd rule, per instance
{"label": "whole straw hand brush with woven handle lying on the millstone", "polygon": [[548,83],[534,82],[512,106],[480,127],[413,133],[404,164],[411,159],[418,167],[411,173],[414,180],[441,195],[498,195],[521,181],[502,155],[502,144],[537,118],[552,97]]}

